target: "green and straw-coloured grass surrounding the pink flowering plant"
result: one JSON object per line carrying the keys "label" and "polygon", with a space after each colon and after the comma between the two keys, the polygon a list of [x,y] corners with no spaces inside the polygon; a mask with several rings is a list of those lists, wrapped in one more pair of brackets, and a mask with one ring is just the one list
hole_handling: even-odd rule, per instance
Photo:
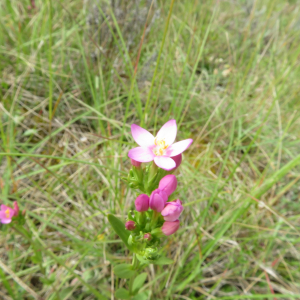
{"label": "green and straw-coloured grass surrounding the pink flowering plant", "polygon": [[300,299],[299,1],[159,1],[143,43],[146,18],[128,30],[98,5],[87,22],[91,2],[0,3],[0,197],[31,233],[0,227],[0,298],[126,287],[106,215],[125,220],[135,199],[120,179],[130,125],[175,118],[194,139],[185,210],[163,245],[175,263],[146,269],[148,299]]}

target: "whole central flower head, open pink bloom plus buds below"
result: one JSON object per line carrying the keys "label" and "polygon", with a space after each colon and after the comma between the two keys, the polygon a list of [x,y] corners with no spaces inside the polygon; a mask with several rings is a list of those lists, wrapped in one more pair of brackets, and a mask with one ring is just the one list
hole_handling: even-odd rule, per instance
{"label": "whole central flower head, open pink bloom plus buds below", "polygon": [[[174,234],[180,227],[182,203],[174,192],[177,178],[172,174],[181,164],[182,152],[192,139],[174,143],[177,134],[175,120],[168,121],[154,137],[147,130],[133,124],[131,132],[140,147],[128,153],[132,169],[127,180],[138,191],[135,211],[128,213],[125,228],[130,231],[128,244],[143,259],[159,257],[160,239]],[[142,163],[151,162],[142,167]]]}

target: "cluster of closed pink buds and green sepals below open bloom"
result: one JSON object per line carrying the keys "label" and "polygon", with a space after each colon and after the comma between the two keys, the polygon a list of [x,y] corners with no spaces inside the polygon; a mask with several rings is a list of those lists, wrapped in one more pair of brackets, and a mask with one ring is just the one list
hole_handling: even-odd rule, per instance
{"label": "cluster of closed pink buds and green sepals below open bloom", "polygon": [[179,199],[168,201],[176,188],[176,176],[166,175],[150,197],[147,194],[140,194],[136,198],[135,211],[128,214],[125,228],[131,231],[130,244],[135,247],[137,253],[143,254],[148,260],[153,260],[157,256],[160,238],[171,235],[179,229],[182,203]]}

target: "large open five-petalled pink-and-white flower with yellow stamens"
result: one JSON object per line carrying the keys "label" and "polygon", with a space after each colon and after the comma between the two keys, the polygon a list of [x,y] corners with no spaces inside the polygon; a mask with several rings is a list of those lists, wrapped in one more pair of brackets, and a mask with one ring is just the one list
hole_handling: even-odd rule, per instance
{"label": "large open five-petalled pink-and-white flower with yellow stamens", "polygon": [[156,137],[136,124],[131,125],[131,133],[140,147],[131,149],[128,156],[139,162],[154,160],[158,167],[167,171],[176,167],[172,157],[181,154],[193,142],[192,139],[187,139],[173,144],[177,134],[175,120],[170,120],[163,125]]}

